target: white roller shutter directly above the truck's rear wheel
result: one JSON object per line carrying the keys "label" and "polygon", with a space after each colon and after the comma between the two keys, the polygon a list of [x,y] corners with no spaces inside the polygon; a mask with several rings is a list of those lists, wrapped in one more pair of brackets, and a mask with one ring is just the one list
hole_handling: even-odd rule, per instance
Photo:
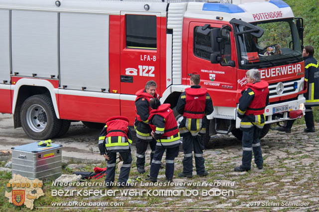
{"label": "white roller shutter directly above the truck's rear wheel", "polygon": [[57,12],[11,11],[12,70],[22,76],[58,75]]}

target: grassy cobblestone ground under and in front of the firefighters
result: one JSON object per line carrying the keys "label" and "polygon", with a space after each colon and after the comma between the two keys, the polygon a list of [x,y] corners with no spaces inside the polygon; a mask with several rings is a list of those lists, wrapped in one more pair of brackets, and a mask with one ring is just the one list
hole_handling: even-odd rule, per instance
{"label": "grassy cobblestone ground under and in front of the firefighters", "polygon": [[[122,202],[122,211],[319,211],[319,124],[316,133],[304,133],[304,125],[294,125],[291,134],[270,130],[261,140],[264,169],[259,170],[252,162],[249,172],[234,172],[234,167],[241,164],[241,142],[235,137],[216,135],[211,139],[213,148],[204,150],[205,166],[209,172],[206,177],[196,175],[195,167],[192,179],[178,178],[182,171],[183,153],[179,152],[175,159],[174,185],[148,185],[145,181],[150,169],[150,150],[147,151],[146,173],[141,175],[136,170],[136,149],[132,146],[133,163],[130,178],[135,185],[128,188],[131,194],[116,193],[115,196],[89,197],[50,197],[51,190],[74,189],[104,189],[101,187],[44,187],[45,196],[41,204],[35,206],[49,206],[51,202]],[[71,128],[72,132],[72,128]],[[98,134],[98,132],[96,132]],[[72,137],[73,134],[68,133]],[[67,136],[68,136],[67,135]],[[98,135],[97,135],[98,136]],[[61,138],[57,141],[70,142],[72,139]],[[94,137],[90,135],[90,137]],[[88,146],[96,146],[96,140],[82,138]],[[70,140],[70,141],[67,141]],[[96,150],[92,150],[96,152]],[[96,152],[98,155],[98,152]],[[81,154],[84,154],[84,152]],[[98,157],[98,156],[97,156]],[[164,165],[163,156],[162,163]],[[64,161],[63,174],[73,171],[92,171],[94,166],[101,164],[71,164]],[[194,163],[194,161],[193,161]],[[2,162],[2,164],[4,164]],[[116,178],[122,162],[118,163]],[[165,183],[165,171],[160,169],[159,183]],[[141,177],[143,182],[136,180]],[[104,179],[90,182],[103,182]],[[112,188],[118,190],[117,187]],[[142,196],[140,192],[145,190]],[[119,191],[124,191],[119,189]],[[151,193],[146,193],[147,191]],[[166,192],[161,193],[160,191]],[[134,193],[137,192],[137,193]],[[170,192],[170,193],[169,193]],[[166,195],[166,196],[163,196]],[[40,198],[41,199],[41,198]],[[117,209],[117,210],[119,210]],[[36,208],[42,211],[41,208]],[[79,208],[54,210],[87,210]],[[92,209],[93,210],[93,209]],[[95,210],[95,209],[94,209]],[[100,208],[96,211],[115,211],[116,208]],[[91,209],[89,210],[91,211]]]}

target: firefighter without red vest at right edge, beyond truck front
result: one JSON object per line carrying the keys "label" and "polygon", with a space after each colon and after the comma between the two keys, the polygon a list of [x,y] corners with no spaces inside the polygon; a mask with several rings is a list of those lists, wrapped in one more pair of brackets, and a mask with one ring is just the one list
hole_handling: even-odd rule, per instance
{"label": "firefighter without red vest at right edge, beyond truck front", "polygon": [[[305,111],[305,121],[306,129],[305,133],[314,133],[315,123],[314,123],[314,114],[312,107],[319,106],[319,63],[314,58],[314,47],[305,46],[303,50],[303,57],[305,62],[305,80],[307,83],[307,93],[304,94],[306,98],[306,111]],[[295,122],[294,120],[289,120],[285,123],[284,127],[277,127],[274,130],[291,133],[291,128]]]}

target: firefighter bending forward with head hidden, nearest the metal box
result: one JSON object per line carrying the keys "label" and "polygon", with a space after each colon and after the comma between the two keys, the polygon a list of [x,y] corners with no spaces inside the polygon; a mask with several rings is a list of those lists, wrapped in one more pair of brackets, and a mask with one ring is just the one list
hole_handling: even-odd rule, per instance
{"label": "firefighter bending forward with head hidden, nearest the metal box", "polygon": [[132,163],[130,144],[132,144],[132,140],[129,119],[124,116],[112,116],[107,119],[106,125],[99,136],[99,149],[101,155],[107,160],[105,184],[108,188],[111,188],[114,182],[117,152],[123,160],[119,187],[126,185]]}

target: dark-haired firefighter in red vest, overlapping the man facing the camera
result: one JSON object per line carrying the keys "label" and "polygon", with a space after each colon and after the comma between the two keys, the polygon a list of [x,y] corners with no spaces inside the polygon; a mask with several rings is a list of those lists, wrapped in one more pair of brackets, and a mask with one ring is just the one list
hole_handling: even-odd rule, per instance
{"label": "dark-haired firefighter in red vest, overlapping the man facing the camera", "polygon": [[151,99],[149,123],[152,128],[152,136],[157,141],[154,158],[151,164],[150,177],[146,180],[157,182],[160,170],[160,162],[166,149],[165,176],[168,182],[172,182],[174,174],[174,159],[179,151],[179,132],[170,104],[160,105],[159,99]]}

